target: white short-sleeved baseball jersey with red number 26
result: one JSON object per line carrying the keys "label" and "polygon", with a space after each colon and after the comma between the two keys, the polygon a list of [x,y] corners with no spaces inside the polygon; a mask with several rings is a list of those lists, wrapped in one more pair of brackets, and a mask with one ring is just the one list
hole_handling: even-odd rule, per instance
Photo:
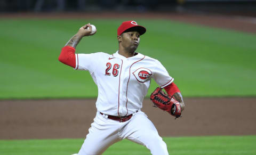
{"label": "white short-sleeved baseball jersey with red number 26", "polygon": [[142,108],[151,78],[165,87],[173,78],[156,59],[138,53],[125,58],[98,52],[76,54],[76,68],[88,70],[98,86],[97,110],[107,115],[126,116]]}

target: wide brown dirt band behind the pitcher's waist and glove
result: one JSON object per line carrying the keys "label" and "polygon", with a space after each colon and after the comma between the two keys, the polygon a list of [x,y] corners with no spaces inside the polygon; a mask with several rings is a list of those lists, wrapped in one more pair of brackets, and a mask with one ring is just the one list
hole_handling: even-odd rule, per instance
{"label": "wide brown dirt band behind the pitcher's waist and glove", "polygon": [[[0,101],[0,139],[84,138],[96,100]],[[256,98],[188,98],[182,118],[143,103],[161,136],[255,135]]]}

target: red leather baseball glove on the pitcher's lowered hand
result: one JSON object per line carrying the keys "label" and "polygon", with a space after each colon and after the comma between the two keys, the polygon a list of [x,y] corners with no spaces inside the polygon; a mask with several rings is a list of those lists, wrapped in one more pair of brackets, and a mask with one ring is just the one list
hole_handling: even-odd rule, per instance
{"label": "red leather baseball glove on the pitcher's lowered hand", "polygon": [[150,95],[150,100],[155,104],[156,107],[167,111],[176,118],[181,117],[180,103],[173,97],[165,94],[162,88],[157,87],[155,91]]}

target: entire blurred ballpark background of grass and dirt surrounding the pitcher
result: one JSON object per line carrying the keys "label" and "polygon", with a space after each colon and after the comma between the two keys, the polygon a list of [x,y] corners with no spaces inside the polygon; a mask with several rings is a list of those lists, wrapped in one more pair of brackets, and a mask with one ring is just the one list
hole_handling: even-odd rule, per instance
{"label": "entire blurred ballpark background of grass and dirt surrounding the pitcher", "polygon": [[[0,0],[0,154],[79,150],[98,88],[89,72],[58,61],[61,48],[90,22],[97,33],[76,52],[115,53],[127,20],[147,28],[137,52],[163,64],[186,103],[176,120],[153,108],[153,80],[143,101],[170,154],[256,154],[253,0]],[[60,140],[14,141],[42,138]],[[106,154],[149,154],[131,148],[117,143]]]}

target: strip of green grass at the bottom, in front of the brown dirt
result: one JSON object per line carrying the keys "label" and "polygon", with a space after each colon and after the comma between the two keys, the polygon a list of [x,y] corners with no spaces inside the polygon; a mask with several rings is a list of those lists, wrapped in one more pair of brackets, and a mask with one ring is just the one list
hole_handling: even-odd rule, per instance
{"label": "strip of green grass at the bottom, in front of the brown dirt", "polygon": [[[173,155],[253,155],[256,136],[164,137],[169,154]],[[82,139],[62,140],[0,140],[1,155],[70,155],[77,153]],[[127,153],[129,152],[129,153]],[[150,151],[142,145],[123,140],[110,146],[103,155],[146,155]]]}

